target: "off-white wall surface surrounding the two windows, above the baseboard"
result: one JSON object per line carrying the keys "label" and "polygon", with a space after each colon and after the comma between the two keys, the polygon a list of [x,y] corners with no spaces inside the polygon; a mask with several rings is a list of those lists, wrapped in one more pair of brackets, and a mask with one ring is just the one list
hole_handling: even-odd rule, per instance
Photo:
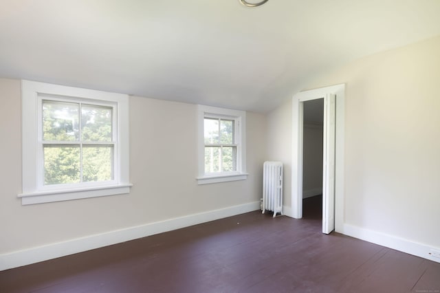
{"label": "off-white wall surface surrounding the two windows, above the baseboard", "polygon": [[129,100],[129,195],[21,206],[20,88],[19,80],[0,79],[0,268],[2,255],[12,259],[19,250],[233,206],[259,208],[264,115],[246,114],[248,180],[198,186],[197,106],[137,96]]}

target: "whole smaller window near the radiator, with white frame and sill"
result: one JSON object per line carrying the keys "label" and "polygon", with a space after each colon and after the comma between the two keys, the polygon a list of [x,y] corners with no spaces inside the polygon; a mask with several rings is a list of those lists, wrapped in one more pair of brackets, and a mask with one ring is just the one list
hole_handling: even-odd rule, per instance
{"label": "whole smaller window near the radiator, with white frame and sill", "polygon": [[199,184],[244,180],[245,112],[199,105]]}

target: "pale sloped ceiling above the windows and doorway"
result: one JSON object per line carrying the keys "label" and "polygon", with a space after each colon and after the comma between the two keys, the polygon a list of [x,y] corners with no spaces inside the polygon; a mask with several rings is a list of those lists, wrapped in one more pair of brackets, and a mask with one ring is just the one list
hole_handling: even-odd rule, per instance
{"label": "pale sloped ceiling above the windows and doorway", "polygon": [[320,72],[439,35],[439,15],[439,0],[3,0],[0,76],[267,112]]}

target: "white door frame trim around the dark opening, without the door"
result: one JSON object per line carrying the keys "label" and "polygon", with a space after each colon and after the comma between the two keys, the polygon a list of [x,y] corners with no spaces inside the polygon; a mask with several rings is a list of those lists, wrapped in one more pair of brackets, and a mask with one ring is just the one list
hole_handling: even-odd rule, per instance
{"label": "white door frame trim around the dark opening, without the door", "polygon": [[[303,217],[303,102],[336,95],[335,230],[344,224],[344,99],[345,85],[301,91],[292,100],[292,217]],[[324,220],[324,219],[323,219]]]}

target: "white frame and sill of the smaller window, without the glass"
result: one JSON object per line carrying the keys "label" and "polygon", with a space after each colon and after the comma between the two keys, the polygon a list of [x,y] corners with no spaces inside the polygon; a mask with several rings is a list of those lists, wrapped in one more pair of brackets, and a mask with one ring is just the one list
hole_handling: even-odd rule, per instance
{"label": "white frame and sill of the smaller window, without the glass", "polygon": [[[248,173],[246,173],[246,112],[233,109],[198,105],[197,115],[199,161],[199,175],[197,177],[197,183],[201,185],[245,180],[248,177]],[[234,120],[234,144],[236,144],[237,160],[236,171],[205,173],[205,118]]]}

